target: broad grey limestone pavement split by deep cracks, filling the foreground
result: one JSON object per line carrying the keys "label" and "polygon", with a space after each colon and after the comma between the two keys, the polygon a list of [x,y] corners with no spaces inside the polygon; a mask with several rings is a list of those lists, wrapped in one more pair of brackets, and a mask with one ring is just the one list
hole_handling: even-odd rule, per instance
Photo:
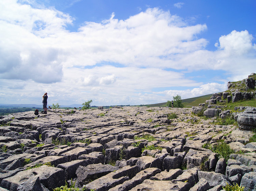
{"label": "broad grey limestone pavement split by deep cracks, filling the foreground", "polygon": [[[234,125],[191,113],[200,108],[50,109],[0,119],[0,190],[49,191],[65,181],[82,190],[256,189],[255,109]],[[171,119],[170,114],[177,118]],[[246,129],[246,130],[244,130]],[[228,161],[203,145],[227,143]],[[202,147],[203,146],[203,147]],[[244,154],[242,154],[244,153]]]}

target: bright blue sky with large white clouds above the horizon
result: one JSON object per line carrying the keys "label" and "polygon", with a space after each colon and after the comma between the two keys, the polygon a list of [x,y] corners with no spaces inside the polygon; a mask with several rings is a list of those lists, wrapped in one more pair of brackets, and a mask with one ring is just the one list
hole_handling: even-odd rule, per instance
{"label": "bright blue sky with large white clouds above the horizon", "polygon": [[256,2],[2,0],[0,103],[151,104],[256,72]]}

